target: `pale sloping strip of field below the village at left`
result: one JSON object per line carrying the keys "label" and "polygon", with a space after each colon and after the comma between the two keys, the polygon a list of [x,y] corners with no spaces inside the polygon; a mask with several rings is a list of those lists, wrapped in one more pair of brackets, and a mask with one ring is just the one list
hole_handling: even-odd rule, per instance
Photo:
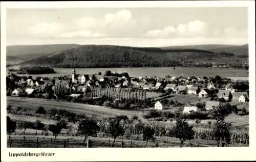
{"label": "pale sloping strip of field below the village at left", "polygon": [[142,117],[143,115],[143,111],[118,110],[98,105],[63,102],[40,98],[7,97],[7,105],[8,104],[12,106],[22,106],[33,110],[36,110],[38,106],[44,106],[45,109],[59,108],[78,114],[96,115],[99,117],[114,117],[116,115],[126,115],[127,117],[137,115]]}

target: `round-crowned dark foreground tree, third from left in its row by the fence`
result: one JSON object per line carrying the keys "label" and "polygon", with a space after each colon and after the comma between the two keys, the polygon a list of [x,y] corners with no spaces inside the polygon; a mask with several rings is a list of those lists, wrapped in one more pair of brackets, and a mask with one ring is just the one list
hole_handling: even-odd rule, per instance
{"label": "round-crowned dark foreground tree, third from left in its row by the fence", "polygon": [[83,143],[99,129],[97,122],[92,118],[85,118],[79,122],[78,132],[84,136]]}

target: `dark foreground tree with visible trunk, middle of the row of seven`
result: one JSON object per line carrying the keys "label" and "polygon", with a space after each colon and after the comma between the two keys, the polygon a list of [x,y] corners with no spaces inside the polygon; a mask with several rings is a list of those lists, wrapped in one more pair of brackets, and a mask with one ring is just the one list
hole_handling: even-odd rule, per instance
{"label": "dark foreground tree with visible trunk, middle of the row of seven", "polygon": [[124,126],[121,124],[121,120],[118,118],[109,118],[109,124],[106,127],[105,132],[111,134],[111,136],[114,138],[112,147],[114,146],[114,143],[116,141],[116,138],[118,136],[123,136],[124,134]]}

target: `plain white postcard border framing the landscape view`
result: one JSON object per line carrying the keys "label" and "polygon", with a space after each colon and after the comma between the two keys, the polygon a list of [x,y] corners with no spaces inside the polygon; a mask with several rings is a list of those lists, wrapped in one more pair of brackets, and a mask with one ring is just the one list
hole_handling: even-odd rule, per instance
{"label": "plain white postcard border framing the landscape view", "polygon": [[[249,147],[233,148],[7,148],[6,139],[6,8],[132,8],[248,7],[249,18]],[[255,2],[254,1],[119,1],[119,2],[1,2],[1,130],[2,161],[151,161],[255,160]],[[8,157],[9,152],[53,152],[54,156]]]}

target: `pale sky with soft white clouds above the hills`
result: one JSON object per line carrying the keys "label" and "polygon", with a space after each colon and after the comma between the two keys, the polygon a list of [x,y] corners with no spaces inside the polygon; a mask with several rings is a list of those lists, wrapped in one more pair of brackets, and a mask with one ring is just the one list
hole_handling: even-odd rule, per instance
{"label": "pale sky with soft white clouds above the hills", "polygon": [[247,8],[7,9],[7,45],[248,43]]}

